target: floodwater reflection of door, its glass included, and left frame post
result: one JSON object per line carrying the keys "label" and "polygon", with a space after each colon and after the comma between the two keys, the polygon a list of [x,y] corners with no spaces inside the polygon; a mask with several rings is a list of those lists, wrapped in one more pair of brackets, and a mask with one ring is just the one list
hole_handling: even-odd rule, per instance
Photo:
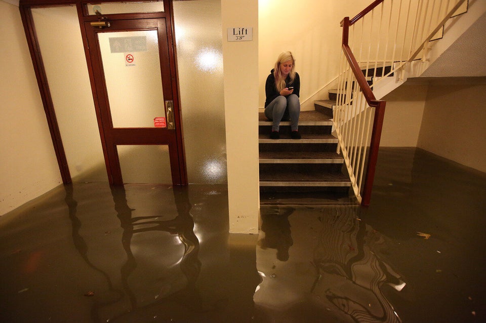
{"label": "floodwater reflection of door, its glass included, and left frame post", "polygon": [[[79,234],[82,224],[76,216],[77,202],[73,198],[73,189],[71,185],[66,186],[65,201],[69,207],[74,246],[84,261],[102,274],[108,286],[108,291],[97,291],[93,297],[93,321],[106,320],[106,317],[109,317],[109,321],[130,321],[134,317],[143,317],[146,315],[144,310],[153,307],[157,307],[158,310],[166,309],[169,316],[173,314],[170,309],[174,311],[175,308],[179,312],[183,312],[181,308],[201,311],[202,302],[195,288],[201,269],[198,259],[199,240],[194,234],[194,221],[190,214],[191,204],[187,190],[180,187],[172,188],[177,208],[175,217],[170,214],[134,217],[135,210],[128,204],[125,187],[112,186],[110,189],[116,216],[122,228],[121,241],[118,241],[126,254],[126,261],[119,265],[120,288],[114,288],[112,283],[112,280],[117,281],[118,275],[113,270],[98,268],[103,265],[94,265],[94,261],[88,256],[88,244]],[[167,216],[173,218],[164,220]],[[177,236],[179,244],[183,246],[182,254],[177,253],[181,250],[179,244],[167,244],[166,241],[172,238],[160,235],[164,232],[170,236]],[[116,236],[115,232],[106,233]],[[134,241],[139,234],[141,237]],[[102,249],[104,246],[100,245],[99,248]],[[158,259],[154,259],[154,255],[158,256]],[[113,259],[115,263],[116,257],[110,254],[104,256]],[[93,258],[99,259],[96,256]],[[178,272],[182,272],[182,275]],[[107,297],[109,292],[111,297]],[[101,296],[97,297],[98,294]],[[127,298],[128,307],[124,306],[128,305]],[[115,303],[118,303],[118,308],[127,309],[119,312],[111,306]]]}

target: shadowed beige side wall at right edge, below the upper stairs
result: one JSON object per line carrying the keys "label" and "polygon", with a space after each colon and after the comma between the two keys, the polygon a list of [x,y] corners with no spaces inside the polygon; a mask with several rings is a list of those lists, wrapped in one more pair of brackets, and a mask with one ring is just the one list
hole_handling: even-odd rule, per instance
{"label": "shadowed beige side wall at right edge, below the upper stairs", "polygon": [[486,172],[486,77],[430,80],[417,147]]}

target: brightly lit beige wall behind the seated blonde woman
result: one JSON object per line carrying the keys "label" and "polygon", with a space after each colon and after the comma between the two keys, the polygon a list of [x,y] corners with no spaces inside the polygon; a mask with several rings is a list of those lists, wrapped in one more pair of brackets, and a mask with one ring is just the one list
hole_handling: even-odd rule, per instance
{"label": "brightly lit beige wall behind the seated blonde woman", "polygon": [[[304,107],[310,103],[313,108],[313,100],[320,97],[310,98],[321,89],[327,89],[339,73],[341,20],[345,16],[354,17],[370,3],[370,0],[260,0],[259,107],[264,106],[265,80],[278,55],[291,51],[300,75],[301,104]],[[327,92],[321,96],[327,96]]]}

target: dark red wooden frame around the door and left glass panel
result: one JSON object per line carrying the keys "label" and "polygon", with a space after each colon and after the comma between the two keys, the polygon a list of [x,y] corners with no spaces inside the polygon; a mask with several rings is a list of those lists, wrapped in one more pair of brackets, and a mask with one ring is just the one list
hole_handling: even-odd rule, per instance
{"label": "dark red wooden frame around the door and left glass panel", "polygon": [[[142,0],[143,1],[143,0]],[[117,0],[99,0],[99,3],[102,2],[123,2]],[[100,138],[103,147],[103,155],[105,158],[105,165],[107,167],[107,174],[110,184],[112,183],[111,172],[108,169],[109,161],[107,160],[107,153],[106,153],[106,141],[104,138],[104,132],[101,126],[101,114],[100,114],[100,106],[97,99],[96,88],[94,84],[95,76],[99,77],[99,75],[94,75],[91,56],[88,48],[88,41],[87,41],[87,34],[84,27],[85,22],[90,21],[98,21],[97,16],[88,15],[86,12],[86,4],[92,3],[90,1],[69,1],[69,0],[20,0],[19,3],[19,10],[20,15],[22,18],[22,23],[24,25],[24,31],[27,38],[27,44],[30,51],[30,56],[32,58],[32,63],[34,67],[34,72],[37,78],[37,84],[39,87],[39,91],[41,93],[41,98],[44,106],[44,111],[46,113],[47,122],[49,125],[49,130],[51,133],[51,139],[53,142],[54,150],[56,152],[56,157],[58,160],[59,170],[61,173],[61,178],[64,184],[71,183],[72,179],[69,173],[69,168],[67,164],[66,154],[64,151],[64,146],[61,139],[61,133],[59,131],[59,126],[57,123],[56,113],[54,110],[54,104],[52,101],[52,96],[49,90],[47,75],[45,72],[44,63],[42,60],[41,51],[38,45],[37,37],[35,34],[35,28],[32,20],[31,8],[32,7],[49,7],[49,6],[62,6],[62,5],[75,5],[78,14],[79,20],[79,28],[82,35],[83,46],[85,49],[86,60],[87,60],[87,67],[88,72],[90,75],[90,82],[91,88],[93,91],[93,101],[95,105],[96,117],[98,120],[98,127],[100,131]],[[173,182],[174,185],[187,185],[187,169],[185,164],[185,152],[183,146],[183,133],[182,133],[182,118],[180,114],[180,93],[178,90],[178,75],[177,75],[177,55],[176,55],[176,43],[174,37],[174,13],[172,7],[172,0],[164,0],[164,12],[159,13],[144,13],[144,14],[114,14],[114,15],[106,15],[109,17],[110,20],[127,20],[127,19],[146,19],[146,18],[165,18],[167,20],[167,38],[170,45],[169,46],[169,56],[170,59],[174,62],[171,64],[171,75],[172,77],[172,89],[173,89],[173,101],[174,106],[177,107],[174,109],[174,119],[176,120],[176,143],[177,143],[177,154],[180,156],[178,163],[180,169],[180,181]],[[173,176],[174,181],[174,176]]]}

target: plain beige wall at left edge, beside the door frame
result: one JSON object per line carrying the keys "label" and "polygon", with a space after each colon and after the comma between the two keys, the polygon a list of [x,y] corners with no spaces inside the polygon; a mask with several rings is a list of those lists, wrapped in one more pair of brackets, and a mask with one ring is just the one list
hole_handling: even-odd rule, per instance
{"label": "plain beige wall at left edge, beside the door frame", "polygon": [[0,1],[0,215],[61,183],[19,8]]}

